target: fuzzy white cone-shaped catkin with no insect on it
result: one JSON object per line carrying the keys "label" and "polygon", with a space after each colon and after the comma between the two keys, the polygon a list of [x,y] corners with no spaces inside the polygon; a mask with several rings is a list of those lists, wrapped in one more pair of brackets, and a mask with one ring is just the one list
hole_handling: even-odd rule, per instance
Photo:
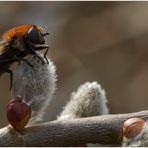
{"label": "fuzzy white cone-shaped catkin with no insect on it", "polygon": [[91,117],[108,114],[105,91],[97,82],[86,82],[76,92],[64,107],[58,120]]}

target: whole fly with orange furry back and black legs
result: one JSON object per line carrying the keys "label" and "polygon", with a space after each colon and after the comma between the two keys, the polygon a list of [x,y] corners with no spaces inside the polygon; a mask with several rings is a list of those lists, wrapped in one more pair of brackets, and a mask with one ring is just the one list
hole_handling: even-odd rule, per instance
{"label": "whole fly with orange furry back and black legs", "polygon": [[[21,25],[14,27],[2,35],[0,41],[0,76],[4,72],[12,72],[9,69],[12,63],[24,61],[30,64],[24,57],[28,54],[36,56],[42,61],[42,64],[48,63],[46,54],[48,45],[45,45],[45,36],[43,28],[37,25]],[[43,60],[36,51],[46,49]],[[31,65],[31,64],[30,64]],[[12,82],[11,82],[12,83]]]}

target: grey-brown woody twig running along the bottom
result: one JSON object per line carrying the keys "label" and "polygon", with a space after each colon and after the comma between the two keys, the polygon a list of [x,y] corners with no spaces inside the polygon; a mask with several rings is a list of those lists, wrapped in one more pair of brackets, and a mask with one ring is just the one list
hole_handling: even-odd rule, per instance
{"label": "grey-brown woody twig running along the bottom", "polygon": [[76,146],[85,143],[120,145],[121,127],[131,117],[148,119],[148,111],[52,121],[18,133],[0,129],[0,146]]}

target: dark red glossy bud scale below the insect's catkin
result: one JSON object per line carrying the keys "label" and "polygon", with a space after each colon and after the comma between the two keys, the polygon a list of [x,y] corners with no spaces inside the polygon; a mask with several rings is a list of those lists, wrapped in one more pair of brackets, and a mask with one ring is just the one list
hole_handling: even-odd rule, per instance
{"label": "dark red glossy bud scale below the insect's catkin", "polygon": [[6,112],[9,123],[17,131],[23,130],[31,117],[30,107],[18,96],[9,101]]}

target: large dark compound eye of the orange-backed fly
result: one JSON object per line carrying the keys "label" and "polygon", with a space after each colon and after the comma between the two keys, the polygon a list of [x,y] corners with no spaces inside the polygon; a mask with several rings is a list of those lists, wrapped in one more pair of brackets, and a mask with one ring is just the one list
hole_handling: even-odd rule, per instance
{"label": "large dark compound eye of the orange-backed fly", "polygon": [[28,30],[28,33],[26,35],[27,40],[29,40],[31,43],[34,44],[44,44],[44,34],[38,30],[35,26],[31,27]]}

